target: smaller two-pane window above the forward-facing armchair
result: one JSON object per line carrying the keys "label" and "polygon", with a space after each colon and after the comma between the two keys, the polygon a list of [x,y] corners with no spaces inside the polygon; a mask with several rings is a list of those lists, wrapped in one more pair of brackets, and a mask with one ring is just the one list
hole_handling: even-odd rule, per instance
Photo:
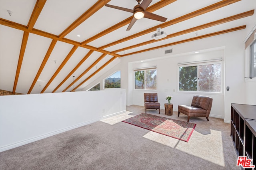
{"label": "smaller two-pane window above the forward-facing armchair", "polygon": [[156,90],[156,69],[134,71],[135,89]]}

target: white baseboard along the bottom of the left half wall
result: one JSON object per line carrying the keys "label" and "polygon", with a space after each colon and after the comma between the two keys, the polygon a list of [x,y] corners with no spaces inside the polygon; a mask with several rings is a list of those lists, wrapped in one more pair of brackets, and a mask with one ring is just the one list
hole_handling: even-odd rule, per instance
{"label": "white baseboard along the bottom of the left half wall", "polygon": [[94,120],[91,120],[91,121],[87,121],[87,122],[84,122],[84,123],[80,123],[80,124],[77,124],[77,125],[74,125],[74,126],[71,126],[71,127],[67,127],[67,128],[63,128],[63,129],[60,129],[60,130],[56,130],[54,132],[50,132],[50,133],[47,133],[47,134],[43,134],[43,135],[40,135],[40,136],[36,136],[34,138],[29,138],[27,140],[23,140],[23,141],[20,141],[20,142],[16,142],[14,144],[10,144],[10,145],[7,145],[7,146],[3,146],[3,147],[0,147],[0,152],[3,152],[3,151],[6,151],[6,150],[9,150],[9,149],[12,149],[12,148],[16,148],[18,146],[22,146],[22,145],[25,145],[25,144],[29,144],[31,142],[35,142],[37,140],[41,140],[41,139],[44,139],[44,138],[47,138],[47,137],[50,137],[50,136],[53,136],[53,135],[56,135],[56,134],[59,134],[59,133],[62,133],[62,132],[66,132],[68,130],[72,130],[74,128],[78,128],[78,127],[82,127],[82,126],[85,126],[85,125],[89,125],[91,123],[94,123],[94,122],[97,122],[97,121],[100,121],[101,119],[105,119],[107,117],[111,117],[111,116],[114,116],[114,115],[118,115],[118,114],[121,114],[121,113],[125,113],[126,111],[120,111],[118,113],[113,113],[111,115],[107,115],[107,116],[104,116],[102,118],[98,118],[98,119],[94,119]]}

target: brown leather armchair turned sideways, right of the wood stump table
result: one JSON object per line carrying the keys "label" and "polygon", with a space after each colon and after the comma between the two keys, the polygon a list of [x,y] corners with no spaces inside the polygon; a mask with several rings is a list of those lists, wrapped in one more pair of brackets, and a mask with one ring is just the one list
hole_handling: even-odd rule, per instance
{"label": "brown leather armchair turned sideways, right of the wood stump table", "polygon": [[192,103],[190,106],[178,105],[178,117],[180,113],[188,116],[188,121],[190,117],[208,117],[212,109],[212,98],[206,96],[194,95]]}

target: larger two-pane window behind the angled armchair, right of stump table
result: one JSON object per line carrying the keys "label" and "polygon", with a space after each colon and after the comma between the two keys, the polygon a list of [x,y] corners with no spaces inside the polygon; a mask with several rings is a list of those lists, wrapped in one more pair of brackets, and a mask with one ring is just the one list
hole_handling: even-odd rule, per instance
{"label": "larger two-pane window behind the angled armchair, right of stump table", "polygon": [[221,92],[221,63],[179,68],[179,91]]}

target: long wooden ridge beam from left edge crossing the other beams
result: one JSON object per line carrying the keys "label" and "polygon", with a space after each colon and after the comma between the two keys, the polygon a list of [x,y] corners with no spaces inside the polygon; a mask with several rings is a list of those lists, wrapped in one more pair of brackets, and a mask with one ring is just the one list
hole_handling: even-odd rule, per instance
{"label": "long wooden ridge beam from left edge crossing the other beams", "polygon": [[77,45],[79,47],[83,47],[83,48],[86,48],[86,49],[91,49],[91,50],[94,50],[94,51],[98,51],[100,53],[106,53],[108,55],[113,55],[113,56],[116,56],[116,57],[120,57],[119,54],[111,53],[110,51],[106,51],[106,50],[103,50],[103,49],[98,49],[98,48],[90,46],[90,45],[82,45],[80,42],[76,42],[76,41],[69,40],[69,39],[66,39],[66,38],[59,38],[58,36],[56,36],[54,34],[43,32],[41,30],[37,30],[37,29],[34,29],[34,28],[32,30],[28,30],[28,28],[26,26],[22,25],[22,24],[18,24],[18,23],[15,23],[15,22],[4,20],[2,18],[0,18],[0,24],[4,25],[4,26],[11,27],[11,28],[16,28],[18,30],[22,30],[22,31],[25,31],[25,32],[29,32],[29,33],[32,33],[32,34],[36,34],[36,35],[39,35],[39,36],[43,36],[43,37],[46,37],[46,38],[51,38],[53,40],[57,40],[57,41],[60,41],[60,42],[65,42],[65,43],[69,43],[69,44],[72,44],[72,45]]}

